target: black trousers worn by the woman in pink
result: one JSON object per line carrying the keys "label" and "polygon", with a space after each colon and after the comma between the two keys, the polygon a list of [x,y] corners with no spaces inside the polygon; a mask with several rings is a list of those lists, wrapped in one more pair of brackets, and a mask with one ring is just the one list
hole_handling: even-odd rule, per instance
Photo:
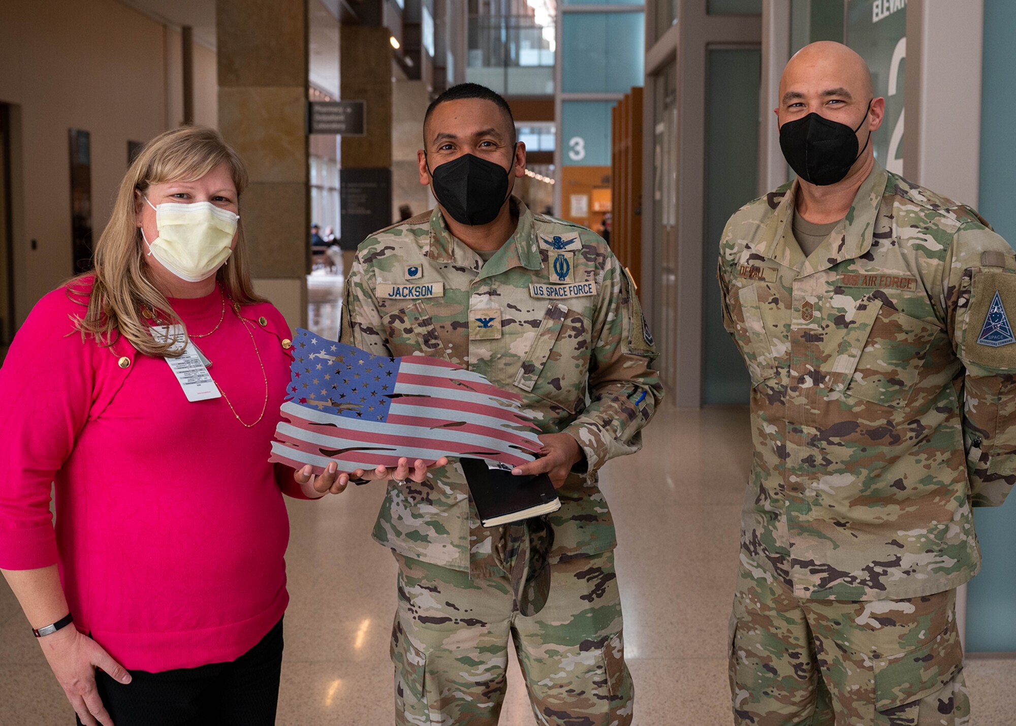
{"label": "black trousers worn by the woman in pink", "polygon": [[[231,663],[161,673],[132,670],[124,685],[103,671],[96,685],[116,726],[271,726],[282,667],[282,620]],[[78,726],[81,720],[77,719]]]}

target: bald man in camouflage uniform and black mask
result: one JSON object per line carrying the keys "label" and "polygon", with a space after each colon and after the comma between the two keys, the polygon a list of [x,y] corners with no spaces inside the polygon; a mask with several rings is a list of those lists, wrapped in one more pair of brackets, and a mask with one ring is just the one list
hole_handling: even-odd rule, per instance
{"label": "bald man in camouflage uniform and black mask", "polygon": [[971,507],[1016,480],[1016,257],[879,165],[885,101],[845,46],[798,53],[775,111],[797,179],[731,218],[718,269],[755,447],[735,723],[966,724],[955,592]]}

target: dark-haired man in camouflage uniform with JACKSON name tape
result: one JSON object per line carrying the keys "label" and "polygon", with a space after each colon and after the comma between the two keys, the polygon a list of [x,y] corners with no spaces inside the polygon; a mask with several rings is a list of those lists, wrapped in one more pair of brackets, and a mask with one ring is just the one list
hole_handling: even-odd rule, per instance
{"label": "dark-haired man in camouflage uniform with JACKSON name tape", "polygon": [[[394,473],[374,537],[399,564],[396,723],[497,723],[511,633],[537,723],[630,724],[614,525],[596,470],[638,450],[662,395],[634,286],[595,234],[510,196],[525,152],[501,97],[455,86],[424,129],[421,182],[440,205],[360,245],[342,341],[446,358],[519,392],[545,448],[515,472],[548,472],[562,507],[547,518],[552,535],[539,520],[485,529],[455,462],[430,478],[422,462],[416,476]],[[538,609],[546,583],[537,593],[526,572],[542,566]]]}

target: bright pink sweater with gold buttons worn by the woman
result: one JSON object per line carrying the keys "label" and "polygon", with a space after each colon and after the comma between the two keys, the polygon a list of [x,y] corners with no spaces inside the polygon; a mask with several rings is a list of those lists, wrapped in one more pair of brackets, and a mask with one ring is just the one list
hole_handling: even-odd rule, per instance
{"label": "bright pink sweater with gold buttons worn by the woman", "polygon": [[[170,303],[194,334],[221,312],[217,290]],[[268,464],[290,380],[285,320],[248,305],[245,326],[227,308],[195,341],[251,423],[264,402],[254,336],[268,402],[246,428],[225,399],[188,403],[164,359],[82,341],[68,316],[83,312],[67,288],[50,293],[0,367],[0,568],[59,563],[75,625],[128,669],[235,660],[289,601],[289,521]]]}

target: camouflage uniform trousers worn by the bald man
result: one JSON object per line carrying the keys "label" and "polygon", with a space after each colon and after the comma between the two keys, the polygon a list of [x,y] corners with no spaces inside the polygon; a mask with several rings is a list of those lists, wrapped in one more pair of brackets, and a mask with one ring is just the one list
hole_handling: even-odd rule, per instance
{"label": "camouflage uniform trousers worn by the bald man", "polygon": [[956,591],[809,600],[742,553],[731,616],[734,723],[964,726]]}

